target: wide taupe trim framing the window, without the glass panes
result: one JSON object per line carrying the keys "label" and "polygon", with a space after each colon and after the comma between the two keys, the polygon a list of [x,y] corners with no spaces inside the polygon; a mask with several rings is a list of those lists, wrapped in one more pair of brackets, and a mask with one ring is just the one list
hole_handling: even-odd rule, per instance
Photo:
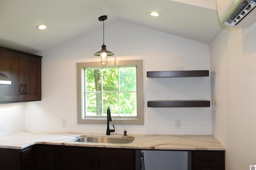
{"label": "wide taupe trim framing the window, without the glass panes", "polygon": [[[129,66],[136,65],[136,85],[137,85],[137,118],[129,117],[114,118],[112,124],[116,125],[144,125],[144,88],[143,88],[143,60],[123,60],[108,61],[106,66]],[[78,124],[106,124],[105,118],[86,118],[82,117],[82,68],[84,67],[102,67],[100,62],[76,63],[76,83],[77,83],[77,123]]]}

